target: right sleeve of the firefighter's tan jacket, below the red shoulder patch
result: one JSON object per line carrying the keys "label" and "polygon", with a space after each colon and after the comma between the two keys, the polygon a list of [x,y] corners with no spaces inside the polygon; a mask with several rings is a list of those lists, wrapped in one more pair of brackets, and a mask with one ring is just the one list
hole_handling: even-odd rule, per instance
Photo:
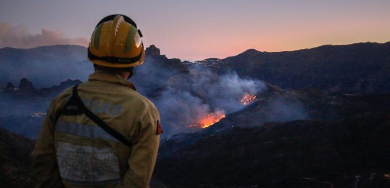
{"label": "right sleeve of the firefighter's tan jacket, below the red shoulder patch", "polygon": [[156,109],[141,117],[139,137],[131,149],[129,170],[125,174],[124,188],[149,188],[155,168],[159,135],[156,134],[159,115]]}

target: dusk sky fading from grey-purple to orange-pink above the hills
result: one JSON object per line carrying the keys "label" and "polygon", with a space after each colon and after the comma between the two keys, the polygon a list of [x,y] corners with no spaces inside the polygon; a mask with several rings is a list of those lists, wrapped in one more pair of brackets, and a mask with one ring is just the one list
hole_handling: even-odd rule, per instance
{"label": "dusk sky fading from grey-purple to orange-pink above the hills", "polygon": [[0,48],[87,46],[110,14],[182,60],[390,41],[390,0],[0,0]]}

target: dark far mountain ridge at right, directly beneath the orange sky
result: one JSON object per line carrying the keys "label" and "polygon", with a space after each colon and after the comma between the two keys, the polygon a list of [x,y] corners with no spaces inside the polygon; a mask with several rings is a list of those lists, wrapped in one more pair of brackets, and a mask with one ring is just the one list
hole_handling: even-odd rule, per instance
{"label": "dark far mountain ridge at right, directly beneath the orange sky", "polygon": [[216,72],[234,70],[239,76],[284,89],[315,87],[344,93],[390,92],[390,42],[324,45],[285,52],[249,49],[220,62],[211,64]]}

